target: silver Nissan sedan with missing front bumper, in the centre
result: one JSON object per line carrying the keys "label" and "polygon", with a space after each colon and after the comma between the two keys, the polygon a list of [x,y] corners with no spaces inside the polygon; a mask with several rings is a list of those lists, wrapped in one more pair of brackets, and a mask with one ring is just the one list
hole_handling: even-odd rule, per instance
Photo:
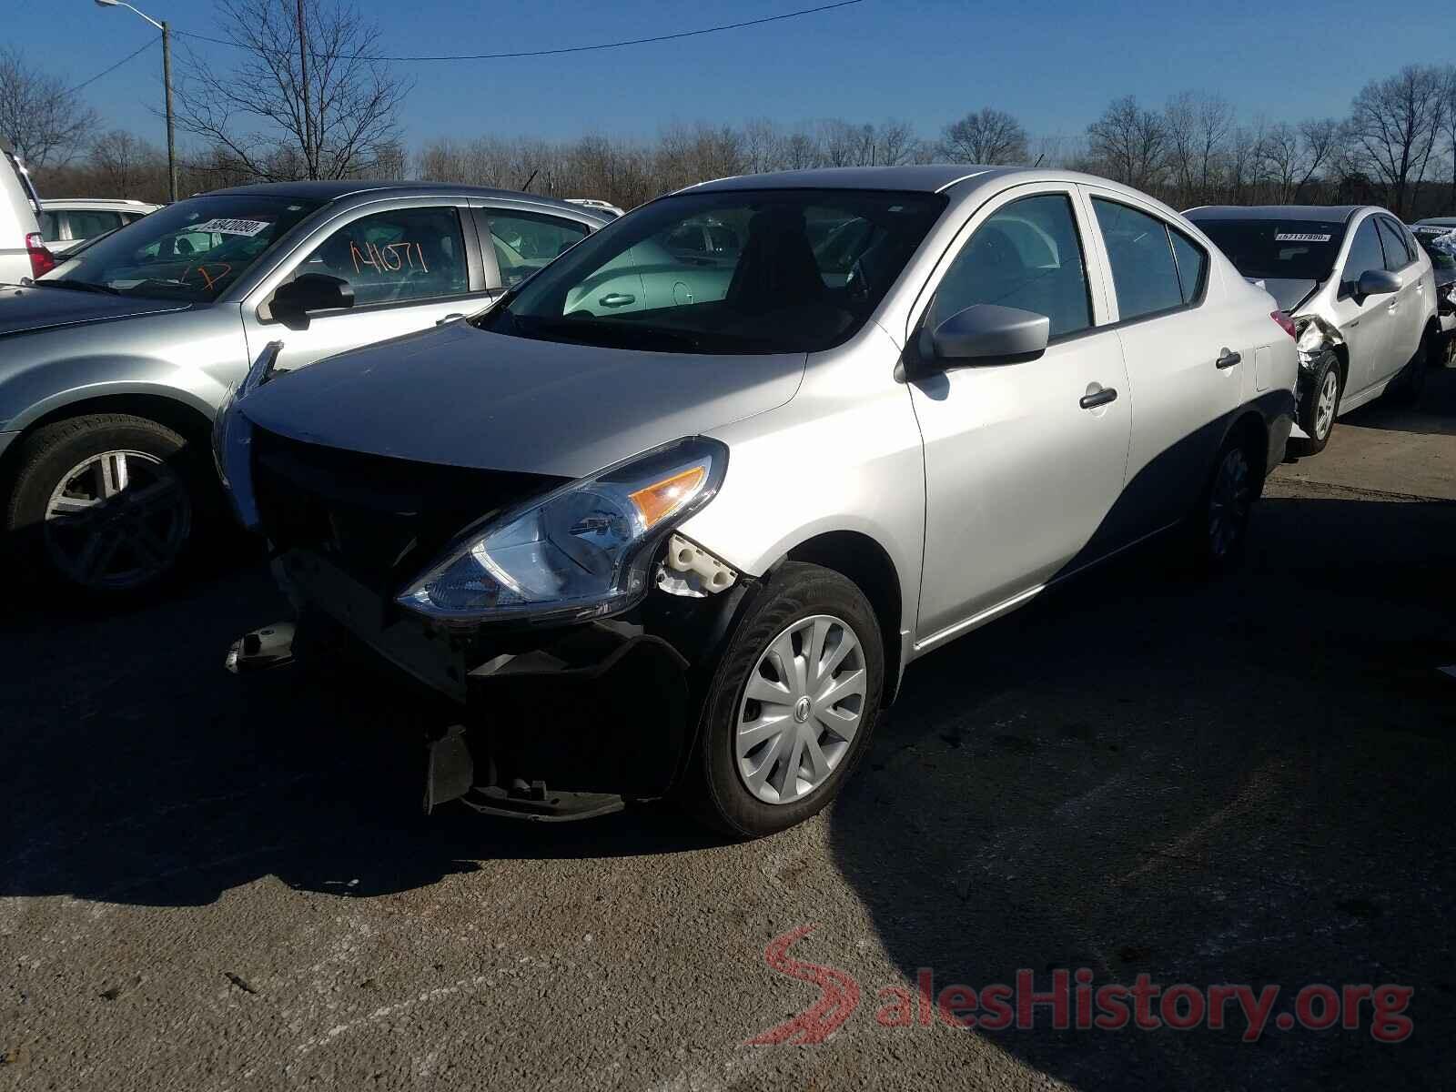
{"label": "silver Nissan sedan with missing front bumper, in the centre", "polygon": [[[702,223],[741,245],[667,245]],[[916,658],[1163,530],[1235,561],[1296,370],[1268,293],[1112,182],[709,182],[470,320],[261,355],[218,459],[300,614],[230,664],[355,648],[344,686],[424,684],[432,804],[673,792],[764,834],[839,792]]]}

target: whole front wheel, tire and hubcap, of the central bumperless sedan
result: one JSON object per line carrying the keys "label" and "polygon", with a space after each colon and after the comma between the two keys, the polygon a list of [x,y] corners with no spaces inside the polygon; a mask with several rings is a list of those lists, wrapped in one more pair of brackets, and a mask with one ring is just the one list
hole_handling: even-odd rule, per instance
{"label": "whole front wheel, tire and hubcap, of the central bumperless sedan", "polygon": [[817,814],[869,745],[884,665],[863,593],[831,569],[786,562],[709,683],[684,804],[734,837]]}

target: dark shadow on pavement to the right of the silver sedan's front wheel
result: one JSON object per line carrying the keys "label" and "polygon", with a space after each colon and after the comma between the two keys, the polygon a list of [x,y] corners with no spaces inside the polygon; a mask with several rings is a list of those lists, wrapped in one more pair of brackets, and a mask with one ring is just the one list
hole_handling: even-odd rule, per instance
{"label": "dark shadow on pavement to the right of the silver sedan's front wheel", "polygon": [[[1415,1034],[978,1032],[1077,1088],[1437,1086],[1453,981],[1456,505],[1268,498],[1249,571],[1128,558],[922,661],[831,818],[936,989],[1088,967],[1415,989]],[[890,1034],[890,1032],[882,1032]]]}

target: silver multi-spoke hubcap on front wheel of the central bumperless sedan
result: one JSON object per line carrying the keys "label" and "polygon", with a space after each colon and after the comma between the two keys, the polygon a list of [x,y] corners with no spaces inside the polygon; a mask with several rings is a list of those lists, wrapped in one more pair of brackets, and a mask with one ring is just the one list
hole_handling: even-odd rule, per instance
{"label": "silver multi-spoke hubcap on front wheel of the central bumperless sedan", "polygon": [[823,785],[865,716],[865,654],[849,625],[814,614],[759,657],[738,705],[738,776],[764,804],[792,804]]}

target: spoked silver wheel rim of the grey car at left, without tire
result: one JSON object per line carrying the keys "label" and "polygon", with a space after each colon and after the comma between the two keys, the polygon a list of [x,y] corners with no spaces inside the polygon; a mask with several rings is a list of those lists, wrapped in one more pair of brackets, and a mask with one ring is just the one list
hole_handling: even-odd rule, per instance
{"label": "spoked silver wheel rim of the grey car at left, without tire", "polygon": [[143,451],[103,451],[71,467],[45,507],[45,549],[77,584],[124,590],[172,568],[192,505],[176,472]]}

